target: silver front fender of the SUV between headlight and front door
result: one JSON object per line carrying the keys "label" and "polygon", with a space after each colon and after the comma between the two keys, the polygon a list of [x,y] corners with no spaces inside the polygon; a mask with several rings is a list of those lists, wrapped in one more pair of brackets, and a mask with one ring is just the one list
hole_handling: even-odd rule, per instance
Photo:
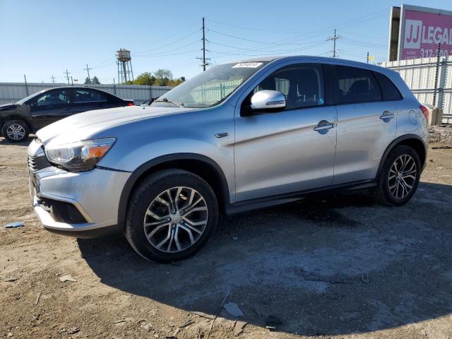
{"label": "silver front fender of the SUV between headlight and front door", "polygon": [[[217,138],[217,133],[228,133]],[[114,136],[117,142],[99,162],[100,166],[134,172],[157,157],[176,153],[203,155],[213,160],[225,176],[230,202],[234,202],[234,107],[179,112],[132,121],[100,137]]]}

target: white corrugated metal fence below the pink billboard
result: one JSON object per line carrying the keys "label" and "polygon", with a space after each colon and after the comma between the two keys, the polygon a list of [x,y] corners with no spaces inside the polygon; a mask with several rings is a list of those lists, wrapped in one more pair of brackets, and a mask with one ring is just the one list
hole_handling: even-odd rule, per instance
{"label": "white corrugated metal fence below the pink billboard", "polygon": [[439,60],[434,103],[436,58],[383,62],[379,66],[398,71],[412,93],[422,103],[443,109],[443,122],[452,123],[452,57]]}

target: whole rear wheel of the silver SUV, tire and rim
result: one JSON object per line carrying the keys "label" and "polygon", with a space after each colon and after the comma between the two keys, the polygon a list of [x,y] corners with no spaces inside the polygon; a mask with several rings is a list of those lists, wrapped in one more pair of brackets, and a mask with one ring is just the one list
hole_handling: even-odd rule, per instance
{"label": "whole rear wheel of the silver SUV, tire and rim", "polygon": [[417,152],[405,145],[391,150],[377,178],[376,198],[386,205],[403,205],[415,194],[421,175]]}

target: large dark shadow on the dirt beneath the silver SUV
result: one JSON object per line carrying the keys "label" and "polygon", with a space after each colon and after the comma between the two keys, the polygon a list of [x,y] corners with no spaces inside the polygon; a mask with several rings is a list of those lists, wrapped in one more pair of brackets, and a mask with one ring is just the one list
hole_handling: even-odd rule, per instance
{"label": "large dark shadow on the dirt beneath the silver SUV", "polygon": [[193,258],[148,263],[122,237],[79,239],[101,282],[215,314],[230,290],[244,320],[277,331],[376,331],[452,311],[452,186],[422,183],[406,206],[365,194],[221,218]]}

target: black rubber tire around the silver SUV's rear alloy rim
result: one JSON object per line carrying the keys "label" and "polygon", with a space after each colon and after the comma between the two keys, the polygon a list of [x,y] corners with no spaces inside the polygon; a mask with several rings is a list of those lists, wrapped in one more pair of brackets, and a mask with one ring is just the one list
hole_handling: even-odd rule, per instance
{"label": "black rubber tire around the silver SUV's rear alloy rim", "polygon": [[[395,190],[394,189],[394,184],[397,185],[397,178],[398,175],[395,175],[394,173],[394,168],[393,165],[396,162],[396,160],[398,161],[398,164],[396,164],[396,167],[399,165],[400,167],[400,157],[406,157],[409,159],[409,157],[412,158],[412,160],[415,162],[415,171],[414,169],[411,171],[413,174],[415,172],[415,179],[412,179],[411,177],[408,178],[410,179],[410,183],[409,185],[406,182],[400,183],[400,189],[403,191],[402,194],[400,194],[400,196],[396,196]],[[410,162],[412,163],[412,162]],[[408,165],[410,166],[410,165]],[[375,189],[375,198],[377,201],[388,205],[388,206],[400,206],[403,205],[405,203],[407,203],[412,196],[415,194],[416,190],[417,190],[417,186],[419,185],[419,180],[420,180],[420,176],[421,176],[421,161],[420,161],[420,157],[417,154],[417,152],[409,147],[409,146],[405,146],[405,145],[399,145],[396,146],[396,148],[394,148],[393,150],[391,150],[391,152],[388,154],[388,157],[386,157],[386,160],[383,164],[383,167],[381,169],[381,172],[379,174],[379,177],[377,177],[377,186]],[[392,168],[392,170],[391,170]],[[409,168],[408,168],[409,169]],[[408,169],[406,171],[401,171],[405,174],[408,174]],[[390,177],[391,174],[391,177]],[[396,179],[395,179],[396,178]],[[407,181],[408,181],[407,179]],[[399,179],[398,182],[400,182],[401,180]],[[408,194],[406,194],[405,196],[403,196],[403,194],[405,194],[405,190],[408,190],[409,186],[412,186],[410,191],[408,191]],[[402,187],[403,186],[403,187]],[[391,187],[391,189],[390,189]],[[392,192],[391,192],[392,190]],[[398,191],[397,191],[398,192]],[[397,193],[399,194],[399,193]]]}

